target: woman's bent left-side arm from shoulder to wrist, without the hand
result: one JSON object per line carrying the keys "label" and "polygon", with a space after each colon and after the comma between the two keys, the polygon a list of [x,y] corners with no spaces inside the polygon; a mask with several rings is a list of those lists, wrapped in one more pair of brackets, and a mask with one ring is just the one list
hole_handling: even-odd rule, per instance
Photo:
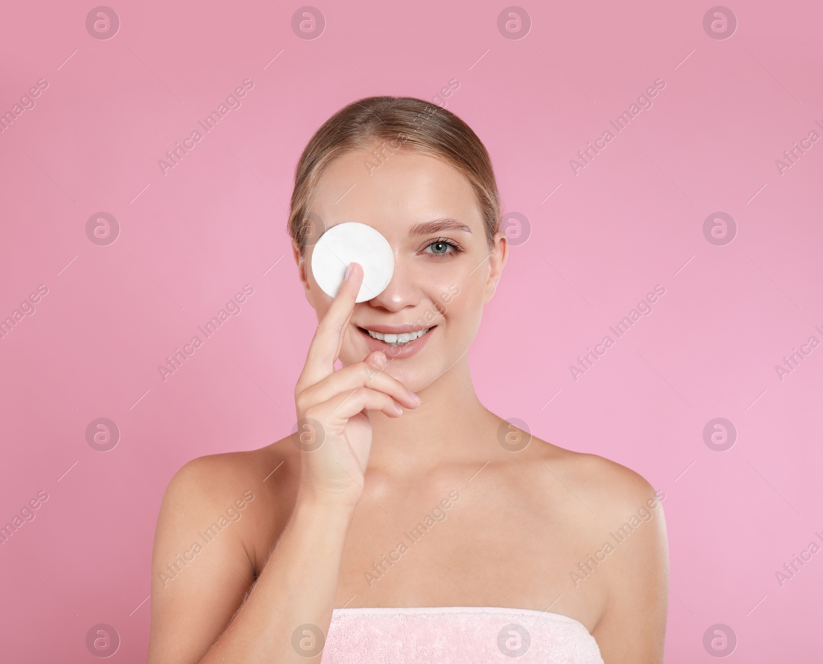
{"label": "woman's bent left-side arm from shoulder to wrist, without the hand", "polygon": [[[244,517],[247,523],[258,520],[259,510],[267,506],[252,493],[258,504],[252,500],[237,511],[247,512],[239,522],[230,521],[222,531],[211,527],[226,512],[214,497],[216,484],[209,481],[221,483],[218,465],[202,459],[185,466],[166,492],[152,563],[149,664],[319,662],[353,507],[297,503],[254,582],[253,563],[239,533],[249,531]],[[252,514],[255,509],[258,513]],[[193,553],[193,543],[202,550]],[[184,552],[192,558],[185,566],[180,562]],[[292,647],[292,636],[304,624],[316,629],[315,634],[300,631],[301,656]],[[305,657],[311,648],[317,648],[316,659]]]}

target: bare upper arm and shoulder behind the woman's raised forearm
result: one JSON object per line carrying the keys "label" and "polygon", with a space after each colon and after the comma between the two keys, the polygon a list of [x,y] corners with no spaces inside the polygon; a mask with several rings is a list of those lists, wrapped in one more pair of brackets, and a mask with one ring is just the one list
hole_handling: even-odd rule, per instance
{"label": "bare upper arm and shoulder behind the woman's raised forearm", "polygon": [[151,554],[150,662],[197,661],[225,629],[291,512],[294,449],[200,456],[174,474]]}

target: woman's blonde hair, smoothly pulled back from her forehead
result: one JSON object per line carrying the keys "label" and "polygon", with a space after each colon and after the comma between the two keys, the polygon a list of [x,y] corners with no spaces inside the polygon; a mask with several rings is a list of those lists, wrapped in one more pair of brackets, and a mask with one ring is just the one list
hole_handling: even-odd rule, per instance
{"label": "woman's blonde hair, smoothly pulled back from her forehead", "polygon": [[[317,241],[325,228],[313,228],[318,220],[309,212],[314,188],[328,165],[346,152],[373,148],[384,151],[408,149],[439,157],[463,174],[477,195],[489,245],[494,245],[500,227],[500,194],[495,171],[486,147],[477,134],[450,110],[416,97],[365,97],[332,115],[306,144],[295,167],[295,188],[291,193],[289,235],[305,255],[306,247]],[[365,168],[378,168],[379,152],[374,152]]]}

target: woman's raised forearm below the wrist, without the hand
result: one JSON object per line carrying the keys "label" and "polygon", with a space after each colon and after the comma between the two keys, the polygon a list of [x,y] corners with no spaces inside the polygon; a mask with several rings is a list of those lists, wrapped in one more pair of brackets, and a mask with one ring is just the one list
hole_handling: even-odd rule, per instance
{"label": "woman's raised forearm below the wrist, without the hand", "polygon": [[298,502],[243,606],[200,664],[319,662],[353,513],[348,505]]}

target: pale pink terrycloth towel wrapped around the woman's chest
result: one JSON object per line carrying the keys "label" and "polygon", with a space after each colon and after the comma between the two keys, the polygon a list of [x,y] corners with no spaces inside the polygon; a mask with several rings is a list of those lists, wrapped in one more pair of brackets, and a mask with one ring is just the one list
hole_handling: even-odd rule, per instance
{"label": "pale pink terrycloth towel wrapped around the woman's chest", "polygon": [[335,609],[322,664],[603,664],[574,618],[487,606]]}

